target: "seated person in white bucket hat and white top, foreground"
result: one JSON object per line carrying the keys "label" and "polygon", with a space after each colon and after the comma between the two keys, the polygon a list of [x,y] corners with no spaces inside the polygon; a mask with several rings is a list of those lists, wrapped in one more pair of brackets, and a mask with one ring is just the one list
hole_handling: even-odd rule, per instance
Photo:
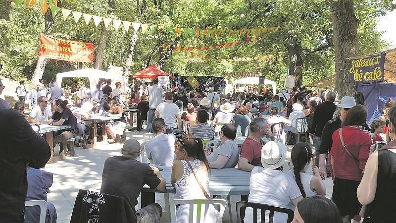
{"label": "seated person in white bucket hat and white top, foreground", "polygon": [[[263,167],[254,167],[250,175],[249,202],[289,208],[294,211],[297,203],[302,200],[296,180],[283,172],[282,165],[286,160],[286,146],[279,141],[265,143],[261,149],[261,164]],[[261,211],[257,211],[257,219],[261,219]],[[266,219],[269,212],[265,213]],[[253,210],[246,209],[246,223],[253,222]],[[276,212],[274,223],[285,223],[287,215]]]}

